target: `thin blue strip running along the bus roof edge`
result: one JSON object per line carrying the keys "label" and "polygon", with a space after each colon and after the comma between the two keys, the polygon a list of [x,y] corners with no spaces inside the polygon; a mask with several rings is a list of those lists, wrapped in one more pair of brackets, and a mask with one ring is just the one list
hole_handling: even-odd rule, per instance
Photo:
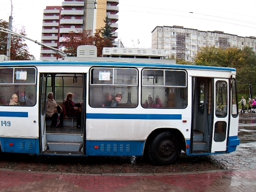
{"label": "thin blue strip running along the bus roof edge", "polygon": [[121,67],[165,67],[175,69],[202,69],[202,70],[222,70],[233,71],[235,68],[231,67],[215,67],[215,66],[193,66],[187,64],[163,64],[157,63],[161,61],[155,60],[155,63],[136,63],[136,62],[114,62],[114,61],[5,61],[2,62],[2,66],[15,66],[15,65],[27,65],[27,66],[40,66],[40,65],[68,65],[68,66],[121,66]]}

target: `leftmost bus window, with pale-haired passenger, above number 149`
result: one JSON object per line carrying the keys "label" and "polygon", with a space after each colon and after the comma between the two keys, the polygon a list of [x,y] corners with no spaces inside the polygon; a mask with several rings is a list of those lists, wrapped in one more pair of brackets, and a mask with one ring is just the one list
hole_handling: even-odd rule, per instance
{"label": "leftmost bus window, with pale-haired passenger, above number 149", "polygon": [[34,67],[0,68],[0,105],[34,106],[36,77]]}

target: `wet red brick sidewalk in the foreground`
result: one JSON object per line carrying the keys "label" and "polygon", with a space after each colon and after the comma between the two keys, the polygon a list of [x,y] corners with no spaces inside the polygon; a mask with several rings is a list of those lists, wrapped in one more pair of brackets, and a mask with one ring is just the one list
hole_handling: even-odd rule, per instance
{"label": "wet red brick sidewalk in the foreground", "polygon": [[256,169],[88,175],[0,169],[0,191],[255,191]]}

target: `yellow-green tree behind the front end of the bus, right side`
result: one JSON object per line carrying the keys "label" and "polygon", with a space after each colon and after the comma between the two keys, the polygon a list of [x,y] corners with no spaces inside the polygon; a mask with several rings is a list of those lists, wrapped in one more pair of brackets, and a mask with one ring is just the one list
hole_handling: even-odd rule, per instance
{"label": "yellow-green tree behind the front end of the bus, right side", "polygon": [[256,89],[256,55],[251,47],[244,47],[243,50],[236,47],[205,47],[197,53],[194,61],[196,65],[233,67],[236,69],[238,91],[247,93],[249,82]]}

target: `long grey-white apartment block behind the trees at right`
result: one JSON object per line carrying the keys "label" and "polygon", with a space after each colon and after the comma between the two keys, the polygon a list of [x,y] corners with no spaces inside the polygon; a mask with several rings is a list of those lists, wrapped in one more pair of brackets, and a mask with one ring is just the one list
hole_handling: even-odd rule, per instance
{"label": "long grey-white apartment block behind the trees at right", "polygon": [[243,37],[220,31],[201,31],[182,26],[157,26],[152,31],[152,49],[165,49],[171,58],[194,61],[202,47],[215,46],[227,49],[249,46],[256,52],[256,37]]}

